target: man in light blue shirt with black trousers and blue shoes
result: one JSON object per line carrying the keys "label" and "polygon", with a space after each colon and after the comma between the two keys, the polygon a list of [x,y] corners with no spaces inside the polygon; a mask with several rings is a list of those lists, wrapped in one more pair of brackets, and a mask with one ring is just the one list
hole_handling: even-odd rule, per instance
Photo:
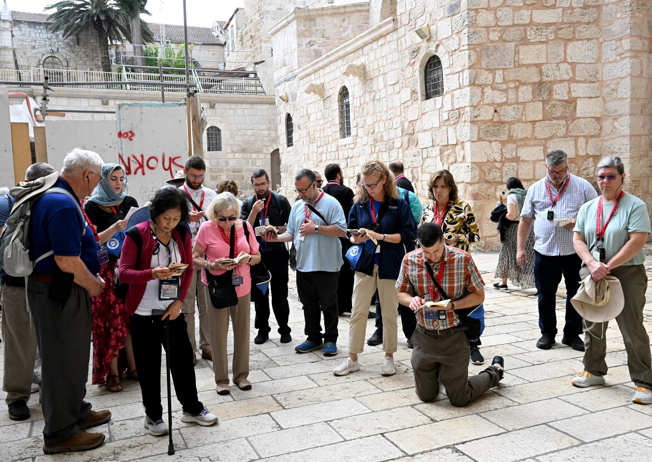
{"label": "man in light blue shirt with black trousers and blue shoes", "polygon": [[[342,244],[346,220],[340,203],[317,187],[312,170],[301,169],[294,179],[301,201],[294,203],[288,229],[276,237],[266,233],[268,242],[293,242],[297,250],[297,293],[303,304],[306,341],[299,353],[323,348],[325,356],[337,353],[337,280],[342,267]],[[321,311],[324,334],[321,334]]]}

